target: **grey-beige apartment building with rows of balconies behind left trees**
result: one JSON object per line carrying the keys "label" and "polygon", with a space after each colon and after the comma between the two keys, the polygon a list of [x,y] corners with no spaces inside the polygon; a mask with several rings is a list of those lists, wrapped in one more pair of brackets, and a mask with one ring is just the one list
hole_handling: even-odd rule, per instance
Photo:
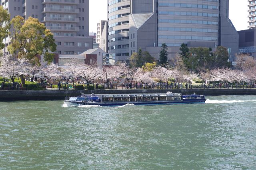
{"label": "grey-beige apartment building with rows of balconies behind left trees", "polygon": [[[89,37],[89,0],[2,0],[11,19],[38,18],[54,34],[59,54],[80,54],[92,48]],[[8,39],[5,40],[8,45]]]}

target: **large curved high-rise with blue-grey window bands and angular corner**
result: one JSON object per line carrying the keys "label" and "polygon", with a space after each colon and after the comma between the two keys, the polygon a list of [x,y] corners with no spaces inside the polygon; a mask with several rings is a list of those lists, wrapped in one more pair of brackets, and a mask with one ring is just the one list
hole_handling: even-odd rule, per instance
{"label": "large curved high-rise with blue-grey window bands and angular corner", "polygon": [[108,52],[126,60],[142,48],[158,59],[166,43],[170,59],[186,43],[188,47],[223,45],[235,56],[238,33],[228,19],[228,5],[229,0],[109,0]]}

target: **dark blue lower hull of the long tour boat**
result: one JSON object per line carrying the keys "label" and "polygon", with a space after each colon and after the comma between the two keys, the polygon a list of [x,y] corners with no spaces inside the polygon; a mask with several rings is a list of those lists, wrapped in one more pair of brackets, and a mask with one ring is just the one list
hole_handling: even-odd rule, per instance
{"label": "dark blue lower hull of the long tour boat", "polygon": [[149,102],[111,102],[111,103],[97,103],[97,102],[83,102],[83,101],[65,101],[76,105],[94,105],[94,106],[106,106],[116,107],[123,106],[126,104],[132,105],[178,105],[178,104],[191,104],[191,103],[205,103],[206,99],[190,99],[183,101],[149,101]]}

